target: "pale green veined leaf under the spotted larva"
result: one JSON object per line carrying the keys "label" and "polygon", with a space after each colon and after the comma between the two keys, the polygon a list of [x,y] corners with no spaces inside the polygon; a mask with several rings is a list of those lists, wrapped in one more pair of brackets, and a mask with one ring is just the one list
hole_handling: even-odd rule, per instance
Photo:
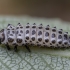
{"label": "pale green veined leaf under the spotted larva", "polygon": [[[70,31],[70,24],[59,19],[31,18],[31,17],[0,17],[0,29],[6,28],[8,23],[25,25],[27,22],[49,24],[57,29]],[[66,24],[65,24],[66,23]],[[70,34],[70,32],[69,32]],[[52,49],[31,47],[29,53],[24,47],[18,47],[19,51],[8,51],[6,46],[0,46],[0,70],[70,70],[70,48]]]}

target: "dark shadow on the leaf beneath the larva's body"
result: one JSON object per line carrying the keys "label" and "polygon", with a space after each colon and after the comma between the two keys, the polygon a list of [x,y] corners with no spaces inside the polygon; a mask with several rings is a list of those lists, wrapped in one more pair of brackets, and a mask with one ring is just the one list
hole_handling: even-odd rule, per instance
{"label": "dark shadow on the leaf beneath the larva's body", "polygon": [[[2,47],[2,48],[6,48],[6,46],[5,45],[1,45],[0,47]],[[28,46],[29,48],[30,48],[30,50],[31,50],[31,52],[38,52],[38,51],[60,51],[60,50],[62,50],[62,51],[65,51],[65,50],[70,50],[70,47],[62,47],[62,48],[60,48],[60,47],[40,47],[40,46]],[[14,47],[13,46],[10,46],[10,48],[11,48],[11,50],[14,50]],[[7,50],[7,48],[6,48],[6,50]],[[24,46],[17,46],[17,52],[19,52],[19,51],[23,51],[23,52],[28,52],[28,50],[24,47]]]}

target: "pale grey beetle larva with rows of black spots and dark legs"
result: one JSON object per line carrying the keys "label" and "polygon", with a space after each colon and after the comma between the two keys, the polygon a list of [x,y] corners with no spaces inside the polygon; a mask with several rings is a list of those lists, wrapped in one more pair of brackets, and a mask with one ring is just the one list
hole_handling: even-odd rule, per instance
{"label": "pale grey beetle larva with rows of black spots and dark legs", "polygon": [[25,46],[30,52],[28,45],[36,45],[43,47],[69,47],[70,36],[68,32],[63,32],[62,29],[57,30],[56,27],[51,28],[49,25],[44,27],[42,24],[26,26],[20,23],[17,26],[8,24],[7,28],[0,31],[0,43],[5,44],[10,50],[10,45],[14,46],[17,51],[17,46]]}

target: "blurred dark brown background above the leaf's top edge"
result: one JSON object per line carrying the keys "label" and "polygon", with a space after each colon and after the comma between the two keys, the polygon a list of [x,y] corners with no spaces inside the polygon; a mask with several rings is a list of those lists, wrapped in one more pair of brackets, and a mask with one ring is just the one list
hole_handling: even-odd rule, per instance
{"label": "blurred dark brown background above the leaf's top edge", "polygon": [[0,0],[0,15],[60,18],[70,21],[69,0]]}

